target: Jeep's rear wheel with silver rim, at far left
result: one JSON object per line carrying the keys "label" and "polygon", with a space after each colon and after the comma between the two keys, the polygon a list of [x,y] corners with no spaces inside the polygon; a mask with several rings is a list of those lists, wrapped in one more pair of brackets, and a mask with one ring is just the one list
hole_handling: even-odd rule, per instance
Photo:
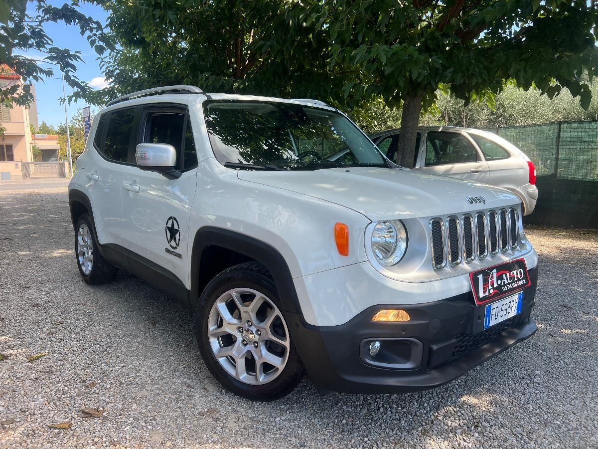
{"label": "Jeep's rear wheel with silver rim, at far left", "polygon": [[90,285],[113,281],[117,269],[98,251],[96,230],[89,215],[83,214],[79,217],[75,232],[75,257],[83,280]]}

